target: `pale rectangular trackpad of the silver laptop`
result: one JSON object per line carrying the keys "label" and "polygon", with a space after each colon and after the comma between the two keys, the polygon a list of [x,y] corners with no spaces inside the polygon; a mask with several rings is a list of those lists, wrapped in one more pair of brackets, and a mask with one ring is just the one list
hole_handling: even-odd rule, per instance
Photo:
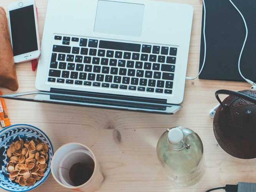
{"label": "pale rectangular trackpad of the silver laptop", "polygon": [[94,32],[140,36],[145,5],[99,0]]}

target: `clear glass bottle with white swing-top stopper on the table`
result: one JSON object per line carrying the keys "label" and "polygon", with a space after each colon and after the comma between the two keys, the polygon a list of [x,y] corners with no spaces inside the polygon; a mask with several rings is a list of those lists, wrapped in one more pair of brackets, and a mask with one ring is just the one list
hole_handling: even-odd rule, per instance
{"label": "clear glass bottle with white swing-top stopper on the table", "polygon": [[157,143],[157,156],[167,176],[181,187],[195,185],[204,174],[200,137],[181,126],[168,129]]}

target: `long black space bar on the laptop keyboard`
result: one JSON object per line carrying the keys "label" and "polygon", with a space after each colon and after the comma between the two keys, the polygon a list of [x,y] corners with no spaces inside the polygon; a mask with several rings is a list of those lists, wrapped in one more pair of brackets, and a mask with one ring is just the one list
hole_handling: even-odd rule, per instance
{"label": "long black space bar on the laptop keyboard", "polygon": [[140,52],[140,47],[141,47],[140,44],[134,44],[134,43],[113,42],[113,41],[106,41],[106,40],[99,41],[99,48],[102,48],[102,49],[114,49],[114,50]]}

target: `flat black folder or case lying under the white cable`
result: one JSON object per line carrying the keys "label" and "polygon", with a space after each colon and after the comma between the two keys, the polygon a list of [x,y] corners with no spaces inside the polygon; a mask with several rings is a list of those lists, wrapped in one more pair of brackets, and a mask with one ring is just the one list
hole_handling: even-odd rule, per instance
{"label": "flat black folder or case lying under the white cable", "polygon": [[[256,81],[256,0],[233,0],[248,25],[248,40],[241,59],[243,75]],[[238,59],[245,38],[243,20],[229,0],[205,0],[206,60],[200,79],[244,81]],[[204,11],[200,49],[200,68],[204,59]]]}

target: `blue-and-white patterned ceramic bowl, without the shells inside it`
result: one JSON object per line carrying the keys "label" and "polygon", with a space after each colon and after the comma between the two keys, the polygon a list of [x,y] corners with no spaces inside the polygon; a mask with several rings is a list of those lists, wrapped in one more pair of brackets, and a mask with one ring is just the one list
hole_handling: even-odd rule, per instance
{"label": "blue-and-white patterned ceramic bowl, without the shells inside it", "polygon": [[[41,180],[37,181],[34,185],[28,187],[22,187],[19,184],[11,181],[9,179],[9,172],[7,172],[6,166],[10,161],[10,158],[7,157],[7,149],[10,145],[18,140],[41,140],[46,143],[49,151],[49,162],[48,167],[45,171],[44,177]],[[39,185],[45,182],[51,173],[51,160],[53,156],[53,147],[49,138],[45,135],[43,131],[39,128],[36,128],[31,125],[12,125],[0,131],[0,187],[2,189],[12,191],[12,192],[25,192],[35,189]]]}

